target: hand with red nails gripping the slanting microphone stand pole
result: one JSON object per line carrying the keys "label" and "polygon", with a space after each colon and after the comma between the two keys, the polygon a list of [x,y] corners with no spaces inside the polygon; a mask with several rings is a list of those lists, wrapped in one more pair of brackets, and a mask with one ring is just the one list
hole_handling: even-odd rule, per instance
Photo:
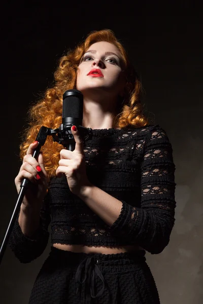
{"label": "hand with red nails gripping the slanting microphone stand pole", "polygon": [[[35,141],[29,145],[27,153],[23,158],[20,171],[15,178],[15,185],[17,192],[19,193],[22,180],[27,178],[31,183],[26,189],[21,206],[40,210],[43,199],[47,193],[48,178],[44,168],[42,153],[39,154],[38,161],[32,157],[38,144],[38,141]],[[39,171],[40,168],[41,171]]]}

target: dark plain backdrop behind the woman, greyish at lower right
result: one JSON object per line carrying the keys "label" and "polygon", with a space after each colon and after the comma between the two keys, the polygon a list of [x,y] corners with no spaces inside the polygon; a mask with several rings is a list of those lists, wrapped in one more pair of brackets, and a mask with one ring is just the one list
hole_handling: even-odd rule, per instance
{"label": "dark plain backdrop behind the woman, greyish at lower right", "polygon": [[[147,262],[162,303],[202,300],[202,9],[195,1],[83,4],[22,2],[2,10],[1,220],[3,240],[16,204],[20,132],[28,107],[51,86],[58,59],[92,30],[112,29],[145,90],[143,104],[165,129],[176,164],[176,225],[171,242]],[[1,302],[27,303],[49,253],[20,264],[7,248]],[[3,299],[3,300],[2,300]]]}

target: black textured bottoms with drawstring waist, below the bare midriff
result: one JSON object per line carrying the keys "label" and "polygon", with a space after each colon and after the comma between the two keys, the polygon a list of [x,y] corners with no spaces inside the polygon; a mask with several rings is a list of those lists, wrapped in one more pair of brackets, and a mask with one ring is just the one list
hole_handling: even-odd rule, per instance
{"label": "black textured bottoms with drawstring waist, below the bare midriff", "polygon": [[75,253],[51,247],[29,304],[160,304],[145,253]]}

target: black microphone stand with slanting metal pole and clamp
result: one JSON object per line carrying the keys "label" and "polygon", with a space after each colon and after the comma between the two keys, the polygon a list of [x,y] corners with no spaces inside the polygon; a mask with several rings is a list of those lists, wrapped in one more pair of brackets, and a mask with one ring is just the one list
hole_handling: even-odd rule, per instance
{"label": "black microphone stand with slanting metal pole and clamp", "polygon": [[[38,159],[40,149],[45,144],[45,141],[46,141],[48,135],[52,135],[53,141],[57,141],[58,143],[62,144],[66,149],[73,151],[75,149],[76,142],[75,142],[74,136],[71,132],[72,126],[73,126],[73,124],[69,124],[69,125],[61,124],[58,129],[51,129],[51,128],[42,126],[37,135],[37,138],[36,138],[36,140],[39,142],[39,144],[38,144],[37,148],[34,150],[32,157],[35,159]],[[83,141],[91,138],[91,136],[92,136],[91,128],[77,126],[77,129],[78,129]],[[31,182],[26,178],[24,178],[23,181],[21,182],[21,185],[20,185],[21,189],[18,194],[17,203],[16,203],[15,209],[13,211],[13,214],[11,216],[11,220],[10,220],[7,232],[5,234],[4,240],[3,240],[1,248],[0,248],[0,264],[2,262],[3,255],[6,250],[6,246],[8,244],[16,218],[18,216],[18,212],[20,210],[20,206],[21,206],[22,200],[24,198],[26,189],[28,188],[30,183]]]}

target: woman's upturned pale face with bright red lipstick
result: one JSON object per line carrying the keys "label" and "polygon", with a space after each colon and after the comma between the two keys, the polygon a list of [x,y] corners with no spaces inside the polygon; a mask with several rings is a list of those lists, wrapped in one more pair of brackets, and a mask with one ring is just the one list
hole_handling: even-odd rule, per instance
{"label": "woman's upturned pale face with bright red lipstick", "polygon": [[106,92],[109,97],[122,95],[125,79],[117,47],[105,41],[92,44],[81,58],[76,84],[83,94],[91,90],[97,94]]}

